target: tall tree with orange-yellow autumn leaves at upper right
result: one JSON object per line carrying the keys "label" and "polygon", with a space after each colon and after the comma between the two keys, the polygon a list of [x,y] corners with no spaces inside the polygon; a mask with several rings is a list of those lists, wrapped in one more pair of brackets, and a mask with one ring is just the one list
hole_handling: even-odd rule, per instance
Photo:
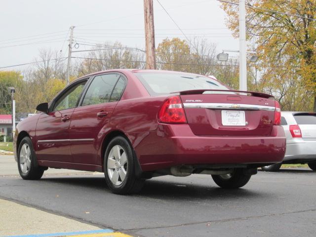
{"label": "tall tree with orange-yellow autumn leaves at upper right", "polygon": [[[222,8],[237,38],[238,5]],[[260,55],[257,89],[283,110],[316,112],[316,0],[246,0],[246,28],[249,49]]]}

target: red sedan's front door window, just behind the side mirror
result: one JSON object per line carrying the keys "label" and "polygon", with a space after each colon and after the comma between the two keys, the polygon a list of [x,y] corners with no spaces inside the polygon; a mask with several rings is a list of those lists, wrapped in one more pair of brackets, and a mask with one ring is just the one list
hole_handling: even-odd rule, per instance
{"label": "red sedan's front door window, just behind the side mirror", "polygon": [[77,106],[83,87],[87,81],[82,81],[74,85],[63,94],[55,103],[52,111],[66,110]]}

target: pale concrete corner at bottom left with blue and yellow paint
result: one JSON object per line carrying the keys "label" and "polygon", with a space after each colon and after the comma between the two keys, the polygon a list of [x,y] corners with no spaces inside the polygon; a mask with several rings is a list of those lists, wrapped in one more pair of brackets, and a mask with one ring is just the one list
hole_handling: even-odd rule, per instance
{"label": "pale concrete corner at bottom left with blue and yellow paint", "polygon": [[0,213],[0,236],[128,237],[3,199],[0,199]]}

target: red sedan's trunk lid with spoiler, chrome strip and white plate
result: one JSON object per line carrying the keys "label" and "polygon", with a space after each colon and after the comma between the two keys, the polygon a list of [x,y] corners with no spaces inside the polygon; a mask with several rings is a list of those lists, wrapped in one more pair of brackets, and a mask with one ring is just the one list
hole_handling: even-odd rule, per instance
{"label": "red sedan's trunk lid with spoiler, chrome strip and white plate", "polygon": [[235,90],[180,92],[195,135],[268,136],[275,116],[271,95]]}

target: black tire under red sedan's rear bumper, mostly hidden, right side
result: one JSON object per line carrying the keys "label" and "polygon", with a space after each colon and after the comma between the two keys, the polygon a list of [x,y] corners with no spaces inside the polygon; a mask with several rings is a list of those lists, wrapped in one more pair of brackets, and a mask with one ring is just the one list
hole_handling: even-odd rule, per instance
{"label": "black tire under red sedan's rear bumper, mostly hidden, right side", "polygon": [[241,188],[248,183],[251,175],[243,173],[242,169],[235,169],[232,174],[212,175],[214,182],[224,189]]}

